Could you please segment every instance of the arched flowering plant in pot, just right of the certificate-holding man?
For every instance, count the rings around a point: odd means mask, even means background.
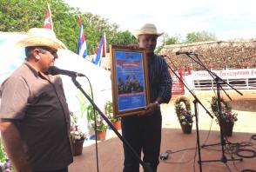
[[[180,96],[176,99],[174,106],[181,129],[185,134],[191,133],[193,115],[191,112],[191,105],[189,99],[187,99],[185,96]]]

